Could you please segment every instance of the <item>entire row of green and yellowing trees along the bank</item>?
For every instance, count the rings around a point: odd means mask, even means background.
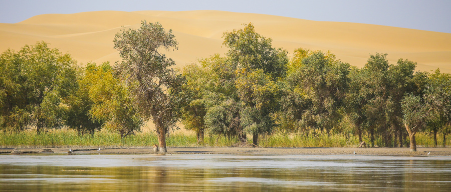
[[[415,72],[415,63],[386,54],[370,55],[359,69],[333,54],[295,50],[293,58],[272,47],[252,24],[224,33],[227,54],[189,64],[180,73],[161,49],[177,49],[174,36],[158,23],[122,30],[114,48],[123,58],[111,67],[78,67],[68,54],[44,42],[0,56],[0,126],[4,131],[71,127],[94,133],[102,127],[122,137],[155,124],[160,151],[165,136],[181,120],[198,142],[206,132],[238,137],[274,130],[352,131],[401,146],[430,129],[443,140],[451,126],[451,76]],[[443,142],[444,143],[444,142]]]

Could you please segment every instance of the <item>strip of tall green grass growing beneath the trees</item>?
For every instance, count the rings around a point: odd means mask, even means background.
[[[438,146],[442,146],[442,136],[437,135]],[[451,138],[451,136],[450,136]],[[270,135],[262,135],[259,138],[262,147],[357,147],[358,138],[353,135],[325,132],[310,134],[308,137],[295,133],[275,132]],[[369,138],[363,138],[369,144]],[[252,137],[248,138],[248,143]],[[417,145],[433,147],[431,135],[423,132],[416,134]],[[446,145],[450,145],[447,139]],[[36,134],[35,131],[23,131],[19,133],[0,132],[0,147],[151,147],[157,144],[157,136],[154,132],[137,133],[123,139],[119,134],[107,131],[99,131],[94,135],[78,135],[70,129],[59,129],[51,132]],[[239,143],[238,138],[227,138],[220,135],[205,135],[204,142],[198,144],[195,133],[173,132],[167,135],[168,147],[229,147]],[[383,146],[382,138],[375,139],[375,144]],[[408,147],[408,144],[405,145]]]

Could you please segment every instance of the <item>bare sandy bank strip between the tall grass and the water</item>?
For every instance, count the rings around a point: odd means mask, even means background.
[[[53,152],[48,152],[51,149]],[[403,148],[344,148],[344,147],[170,147],[167,153],[155,153],[153,148],[98,148],[72,147],[76,154],[228,154],[228,155],[396,155],[396,156],[451,156],[451,147],[417,147],[411,152]],[[69,148],[0,148],[0,154],[67,154]],[[430,152],[429,155],[427,153]]]

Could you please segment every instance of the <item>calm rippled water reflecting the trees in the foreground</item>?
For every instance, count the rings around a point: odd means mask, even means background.
[[[0,191],[449,191],[451,157],[0,155]]]

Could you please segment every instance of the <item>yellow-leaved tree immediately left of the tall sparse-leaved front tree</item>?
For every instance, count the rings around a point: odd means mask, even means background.
[[[134,97],[131,97],[130,87],[113,76],[113,70],[108,62],[99,67],[92,64],[87,72],[89,99],[93,102],[89,115],[97,122],[105,122],[103,127],[118,132],[121,138],[139,131],[143,124],[142,115]]]

